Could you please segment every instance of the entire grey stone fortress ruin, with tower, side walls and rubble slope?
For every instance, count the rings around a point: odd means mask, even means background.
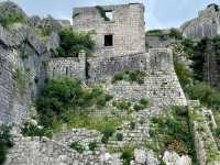
[[[12,30],[0,24],[0,124],[12,123],[18,128],[35,116],[35,99],[48,79],[57,76],[78,78],[86,90],[99,85],[113,98],[112,102],[102,107],[103,109],[94,106],[95,108],[85,108],[79,113],[84,112],[95,120],[119,117],[122,120],[105,148],[101,146],[103,132],[98,129],[68,130],[66,123],[61,123],[61,132],[55,133],[52,139],[24,136],[14,129],[14,146],[10,148],[4,165],[122,165],[121,151],[118,150],[128,143],[141,146],[134,148],[131,165],[160,165],[164,161],[168,165],[190,165],[191,160],[187,154],[180,155],[169,151],[154,153],[146,144],[153,142],[153,147],[158,145],[157,139],[154,141],[151,135],[157,123],[154,125],[150,120],[158,116],[168,117],[169,113],[166,112],[173,106],[189,107],[191,117],[185,118],[187,121],[191,120],[189,127],[195,138],[193,143],[199,164],[219,164],[216,157],[220,153],[209,128],[209,124],[215,123],[212,112],[199,107],[198,101],[186,99],[174,69],[173,51],[165,46],[169,42],[162,44],[160,40],[152,41],[153,37],[145,36],[142,3],[74,8],[73,25],[66,21],[29,18],[13,2],[7,1],[0,3],[1,6],[21,12],[26,22],[24,25],[15,24]],[[208,10],[212,11],[215,7],[210,6]],[[58,31],[65,25],[77,32],[92,32],[96,43],[94,52],[86,54],[81,50],[77,57],[52,57],[52,52],[61,44]],[[53,29],[46,40],[36,35],[35,29],[42,26]],[[193,22],[185,24],[184,34],[193,35],[194,28]],[[128,80],[111,81],[117,73],[128,70],[143,72],[145,75],[142,84]],[[134,106],[140,103],[142,98],[148,99],[145,100],[150,102],[148,107],[135,110]],[[122,110],[113,106],[113,101],[122,99],[130,101],[131,108]],[[194,107],[198,109],[195,110]],[[210,123],[207,122],[207,116],[212,119]],[[117,139],[118,134],[121,134],[121,140]],[[97,148],[91,151],[85,147],[86,150],[79,153],[70,147],[74,142],[87,147],[97,142]],[[98,151],[99,148],[102,151]],[[106,148],[113,152],[109,154]],[[161,154],[164,154],[163,160]],[[206,164],[210,155],[215,155],[210,162],[216,164]]]

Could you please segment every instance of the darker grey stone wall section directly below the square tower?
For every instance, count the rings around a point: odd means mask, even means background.
[[[114,73],[122,70],[145,70],[148,67],[147,59],[147,53],[120,57],[90,58],[88,59],[88,80],[91,82],[101,81],[112,76]]]

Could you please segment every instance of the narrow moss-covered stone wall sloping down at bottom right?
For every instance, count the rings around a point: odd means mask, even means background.
[[[191,105],[190,101],[189,105]],[[205,111],[205,108],[194,106],[189,109],[197,160],[200,165],[218,165],[220,164],[220,151],[209,128]]]

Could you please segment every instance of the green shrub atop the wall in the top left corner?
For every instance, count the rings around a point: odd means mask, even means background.
[[[6,9],[6,7],[0,7],[0,24],[4,28],[10,28],[13,23],[24,23],[26,21],[20,11],[11,11]]]

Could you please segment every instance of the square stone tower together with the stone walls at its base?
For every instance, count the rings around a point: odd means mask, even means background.
[[[86,59],[84,53],[77,59],[51,59],[48,75],[68,74],[92,84],[107,81],[117,72],[144,70],[148,76],[140,90],[135,90],[139,88],[135,85],[124,84],[109,85],[108,90],[119,98],[138,100],[147,96],[161,100],[163,106],[186,105],[172,51],[146,48],[143,4],[75,8],[73,14],[75,31],[95,32],[96,48]]]

